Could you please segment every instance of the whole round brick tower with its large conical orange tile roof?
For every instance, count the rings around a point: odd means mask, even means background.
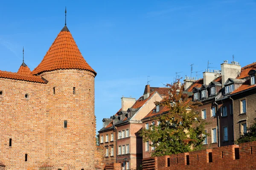
[[[46,79],[45,156],[61,170],[94,170],[96,72],[65,25],[32,71]]]

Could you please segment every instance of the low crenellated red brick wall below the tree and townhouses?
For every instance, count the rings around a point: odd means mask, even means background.
[[[238,148],[239,154],[236,154],[235,150]],[[212,162],[209,159],[209,153],[212,153]],[[187,156],[189,156],[189,165],[187,165]],[[153,164],[151,162],[151,170],[255,170],[256,142],[170,156],[158,156],[153,159],[155,160],[155,167],[152,168]],[[150,158],[143,159],[143,170],[149,169],[147,167],[149,160]]]

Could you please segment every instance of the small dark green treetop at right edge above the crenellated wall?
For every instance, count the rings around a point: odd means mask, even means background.
[[[247,130],[247,133],[244,133],[240,136],[239,139],[237,139],[237,141],[235,142],[236,144],[256,141],[256,121],[254,121],[253,125]]]

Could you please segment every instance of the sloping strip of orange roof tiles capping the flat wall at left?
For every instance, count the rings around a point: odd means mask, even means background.
[[[40,76],[18,74],[18,73],[12,73],[7,71],[0,71],[0,78],[22,80],[27,82],[38,82],[38,83],[45,83],[45,84],[47,83]]]

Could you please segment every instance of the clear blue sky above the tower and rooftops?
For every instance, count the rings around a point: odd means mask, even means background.
[[[5,0],[0,5],[0,70],[33,70],[67,27],[95,79],[97,130],[121,108],[121,97],[204,71],[207,61],[256,61],[256,0]],[[202,76],[202,72],[200,73]],[[195,76],[195,73],[192,74]],[[200,77],[199,76],[199,77]]]

